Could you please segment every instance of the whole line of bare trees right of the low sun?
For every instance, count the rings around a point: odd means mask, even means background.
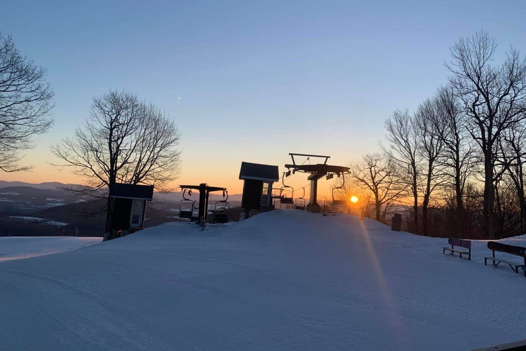
[[[387,144],[351,164],[366,215],[405,214],[406,229],[433,236],[524,233],[526,58],[480,31],[450,47],[448,83],[414,113],[385,122]],[[405,204],[406,206],[400,206]]]

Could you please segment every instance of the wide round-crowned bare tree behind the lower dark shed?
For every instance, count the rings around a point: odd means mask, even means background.
[[[89,118],[52,145],[51,151],[86,180],[83,192],[109,192],[114,183],[149,184],[168,190],[180,164],[180,135],[175,123],[154,105],[126,92],[93,99]],[[106,195],[107,196],[107,195]],[[111,231],[113,203],[107,198],[106,233]]]

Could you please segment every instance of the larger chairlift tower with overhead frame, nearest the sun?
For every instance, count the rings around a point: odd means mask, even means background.
[[[287,172],[290,175],[290,172],[296,173],[296,172],[302,172],[302,173],[309,173],[310,175],[307,177],[308,180],[310,180],[310,199],[309,204],[307,205],[307,210],[309,212],[313,213],[319,213],[320,212],[320,205],[318,205],[318,179],[321,179],[323,177],[326,177],[327,179],[332,178],[335,174],[339,177],[340,175],[349,173],[349,167],[345,166],[333,166],[328,165],[327,161],[329,160],[330,156],[321,156],[321,155],[307,155],[307,154],[289,154],[292,158],[292,164],[286,164],[285,168],[289,170]],[[298,165],[296,164],[296,161],[294,159],[294,156],[302,156],[302,157],[312,157],[312,158],[325,158],[325,161],[321,164],[314,164],[314,165]]]

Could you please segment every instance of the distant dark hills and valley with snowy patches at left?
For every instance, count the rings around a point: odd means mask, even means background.
[[[72,186],[75,184],[0,180],[0,236],[102,235],[105,214],[101,210],[106,200],[64,189]],[[197,203],[198,192],[189,198],[195,199]],[[179,220],[181,199],[182,192],[155,193],[153,201],[148,203],[146,226]],[[213,206],[222,199],[221,192],[210,193],[209,205]],[[229,196],[228,202],[231,209],[240,206],[241,195]]]

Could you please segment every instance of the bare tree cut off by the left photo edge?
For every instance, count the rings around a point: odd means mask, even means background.
[[[49,130],[53,91],[46,70],[27,61],[11,36],[0,33],[0,169],[27,171],[20,151],[33,148],[32,136]]]

